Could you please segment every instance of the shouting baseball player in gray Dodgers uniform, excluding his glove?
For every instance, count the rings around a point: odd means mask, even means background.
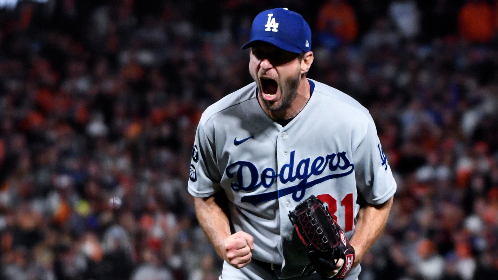
[[[356,251],[347,280],[383,230],[396,184],[368,110],[306,78],[311,29],[286,8],[253,20],[254,82],[203,113],[188,190],[217,253],[220,280],[320,279],[288,218],[316,196]],[[337,269],[345,260],[337,261]]]

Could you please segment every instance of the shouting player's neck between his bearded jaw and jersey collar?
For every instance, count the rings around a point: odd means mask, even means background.
[[[268,115],[273,121],[280,122],[294,118],[303,110],[304,106],[308,103],[310,99],[310,84],[308,79],[303,76],[299,82],[299,87],[297,88],[296,98],[292,101],[291,105],[285,109],[279,111],[270,111],[264,106],[261,106],[264,113]]]

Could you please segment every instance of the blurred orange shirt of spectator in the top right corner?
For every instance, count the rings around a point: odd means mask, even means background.
[[[484,0],[471,0],[458,15],[458,30],[470,42],[486,43],[494,35],[493,8]]]

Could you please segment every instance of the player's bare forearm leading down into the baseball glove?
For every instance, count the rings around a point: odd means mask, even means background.
[[[351,246],[355,248],[356,254],[354,266],[360,264],[365,254],[367,254],[384,229],[391,210],[392,200],[393,198],[391,197],[380,205],[369,204],[361,208],[358,212],[355,233],[350,241]]]

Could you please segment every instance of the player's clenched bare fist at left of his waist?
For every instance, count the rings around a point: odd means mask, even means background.
[[[227,237],[222,246],[225,253],[223,259],[234,268],[241,269],[251,261],[254,238],[248,233],[239,231]]]

